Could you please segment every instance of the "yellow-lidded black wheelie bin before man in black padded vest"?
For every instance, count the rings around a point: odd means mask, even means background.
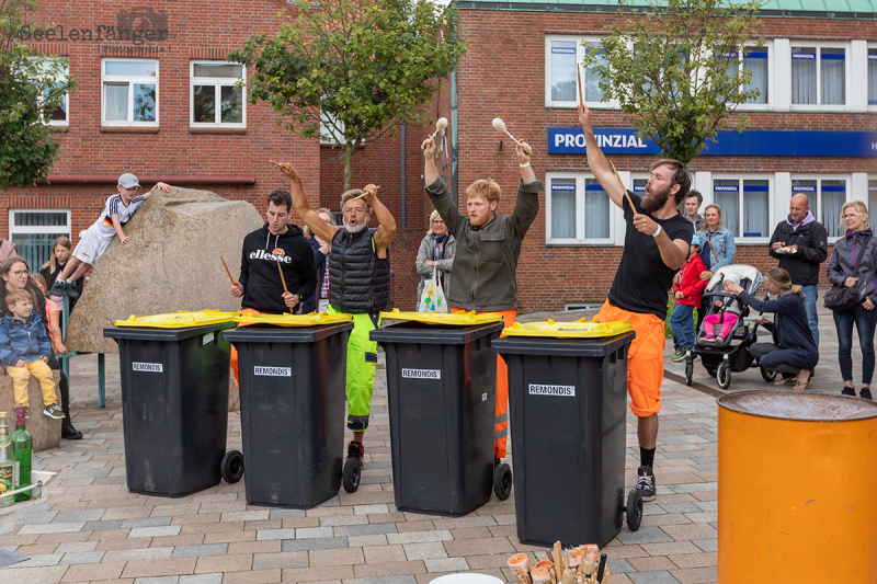
[[[235,320],[247,502],[316,507],[341,489],[352,317]]]

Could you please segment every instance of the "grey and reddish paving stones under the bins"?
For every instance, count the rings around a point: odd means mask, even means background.
[[[522,320],[574,320],[592,313],[543,313]],[[823,364],[812,389],[839,391],[831,316],[821,314],[820,323]],[[686,387],[683,366],[671,364],[670,354],[668,343],[656,456],[658,500],[646,505],[638,531],[625,525],[604,550],[613,584],[716,581],[715,396],[722,392],[699,364],[694,387]],[[104,410],[98,410],[96,357],[78,357],[71,369],[73,423],[86,438],[61,440],[60,448],[35,455],[36,469],[58,473],[47,497],[0,509],[0,546],[30,558],[0,569],[0,582],[415,584],[457,571],[509,581],[505,561],[512,553],[542,549],[519,541],[514,496],[505,502],[492,499],[460,518],[396,511],[383,356],[363,484],[354,494],[342,490],[309,511],[250,506],[243,481],[181,499],[129,493],[118,359],[106,358]],[[766,387],[759,370],[751,369],[734,374],[729,389]],[[628,488],[639,459],[635,424],[628,412]],[[228,447],[240,448],[240,417],[230,414]],[[424,442],[424,453],[433,447]]]

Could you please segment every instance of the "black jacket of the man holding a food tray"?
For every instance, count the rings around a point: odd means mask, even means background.
[[[779,260],[779,267],[788,272],[791,283],[798,286],[819,284],[819,264],[829,256],[829,233],[819,221],[791,229],[788,221],[782,221],[774,229],[767,253]],[[796,253],[776,253],[773,249],[774,241],[783,241],[786,247],[797,245]]]

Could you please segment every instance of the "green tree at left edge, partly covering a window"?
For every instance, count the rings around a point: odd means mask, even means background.
[[[19,42],[36,0],[0,0],[0,188],[44,181],[60,156],[52,126],[44,123],[76,88],[64,76],[66,61]]]

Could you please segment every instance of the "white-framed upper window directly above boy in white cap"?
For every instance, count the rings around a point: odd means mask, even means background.
[[[101,122],[106,126],[158,126],[158,61],[104,59]]]

